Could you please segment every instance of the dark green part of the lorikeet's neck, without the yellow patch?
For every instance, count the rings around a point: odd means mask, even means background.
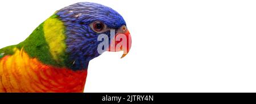
[[[47,42],[46,33],[44,28],[46,26],[46,22],[40,24],[30,36],[22,43],[15,45],[18,49],[24,49],[24,51],[31,57],[36,58],[41,61],[43,64],[64,67],[65,66],[65,57],[67,55],[59,54],[61,59],[53,54],[53,50],[51,50],[52,43]],[[53,41],[53,40],[52,40]],[[58,48],[55,46],[55,48]],[[56,50],[55,50],[56,51]],[[58,53],[58,52],[56,52]]]

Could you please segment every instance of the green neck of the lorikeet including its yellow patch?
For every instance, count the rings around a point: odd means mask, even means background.
[[[56,15],[52,15],[15,47],[23,48],[30,57],[38,59],[43,64],[69,68],[73,61],[68,60],[69,56],[65,52],[64,28],[64,23]]]

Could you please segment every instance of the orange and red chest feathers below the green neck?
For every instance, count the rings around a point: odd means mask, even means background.
[[[0,59],[0,92],[83,92],[87,70],[55,68],[31,59],[27,53]]]

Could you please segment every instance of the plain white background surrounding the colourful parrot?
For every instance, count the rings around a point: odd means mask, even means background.
[[[76,2],[0,1],[0,48]],[[256,1],[89,2],[118,11],[133,45],[90,61],[85,92],[256,92]]]

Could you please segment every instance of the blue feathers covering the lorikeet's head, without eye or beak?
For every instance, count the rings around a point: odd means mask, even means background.
[[[115,29],[126,25],[117,11],[98,3],[75,3],[57,11],[56,15],[66,27],[68,67],[73,70],[87,69],[89,61],[100,56],[97,52],[101,42],[97,41],[99,34],[90,28],[90,23],[100,20],[107,27]],[[110,35],[110,31],[104,34]]]

